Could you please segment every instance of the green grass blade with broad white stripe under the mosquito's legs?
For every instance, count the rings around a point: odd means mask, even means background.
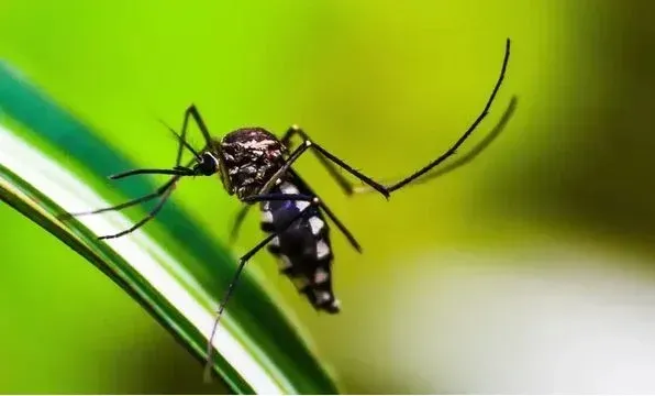
[[[98,241],[97,234],[132,223],[121,213],[59,222],[56,215],[65,210],[110,206],[89,186],[137,165],[2,65],[0,110],[0,199],[100,268],[202,360],[217,298],[236,266],[232,254],[174,200],[157,217],[164,224],[157,240],[146,230]],[[82,169],[65,168],[55,160],[62,155]],[[81,182],[81,174],[92,179]],[[126,197],[155,188],[147,178],[115,187]],[[224,319],[214,340],[215,369],[234,392],[337,393],[297,326],[247,273]],[[200,366],[198,373],[201,381]]]

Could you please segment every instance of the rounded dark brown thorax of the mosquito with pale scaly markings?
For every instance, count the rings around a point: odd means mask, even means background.
[[[221,141],[225,169],[233,193],[243,198],[256,194],[285,164],[286,147],[263,128],[242,128]]]

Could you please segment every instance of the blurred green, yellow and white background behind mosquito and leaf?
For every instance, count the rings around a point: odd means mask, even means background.
[[[655,6],[645,1],[0,2],[0,55],[107,143],[169,166],[198,105],[215,134],[303,125],[377,178],[401,177],[506,85],[474,163],[390,201],[298,168],[355,232],[335,235],[337,317],[259,271],[346,391],[655,392]],[[196,138],[196,142],[200,142]],[[119,169],[121,170],[121,169]],[[219,183],[175,194],[217,239]],[[212,393],[200,364],[99,271],[0,206],[0,392]],[[156,227],[156,226],[149,226]],[[238,242],[260,238],[252,216]]]

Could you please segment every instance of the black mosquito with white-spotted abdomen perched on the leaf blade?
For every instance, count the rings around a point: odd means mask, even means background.
[[[387,199],[391,193],[403,188],[424,175],[426,178],[441,175],[444,172],[440,170],[444,168],[434,168],[455,154],[457,148],[471,135],[489,112],[504,79],[509,57],[510,40],[508,38],[500,75],[481,113],[446,152],[423,168],[395,184],[384,185],[356,170],[323,148],[297,125],[290,127],[281,139],[257,127],[241,128],[227,133],[222,139],[214,139],[211,136],[196,106],[191,105],[185,111],[179,134],[167,127],[178,141],[174,167],[133,169],[110,176],[111,179],[120,179],[134,175],[171,175],[173,177],[168,182],[154,193],[124,204],[87,212],[68,213],[67,216],[96,215],[125,209],[149,200],[158,200],[147,216],[131,228],[115,234],[99,237],[99,239],[123,237],[155,218],[170,197],[177,183],[182,177],[188,176],[218,175],[226,193],[235,195],[244,204],[234,222],[232,239],[238,232],[247,209],[254,204],[259,205],[262,230],[267,235],[240,257],[236,272],[219,305],[207,345],[206,378],[209,378],[213,366],[212,341],[225,305],[230,300],[246,263],[263,248],[267,246],[267,250],[277,258],[280,272],[290,278],[297,290],[304,295],[314,309],[328,314],[337,314],[340,311],[340,301],[335,298],[332,288],[333,254],[326,221],[330,220],[336,226],[357,252],[362,252],[362,248],[344,223],[296,173],[292,168],[293,163],[306,152],[312,152],[346,195],[371,190],[381,194]],[[509,114],[509,112],[506,114]],[[199,151],[187,142],[187,130],[191,120],[197,124],[204,140],[204,146]],[[301,139],[302,143],[293,148],[292,140],[297,136]],[[476,150],[471,151],[473,154],[467,156],[468,161],[482,148],[484,146],[479,145],[477,152]],[[191,153],[193,158],[182,165],[181,157],[185,150]],[[446,172],[453,170],[454,167],[467,162],[466,157],[464,160],[457,164],[451,164]],[[365,188],[356,188],[342,175],[340,169],[359,179]],[[432,169],[435,172],[430,173]]]

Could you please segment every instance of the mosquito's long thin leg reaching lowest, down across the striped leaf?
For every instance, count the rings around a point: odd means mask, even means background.
[[[256,196],[253,199],[257,199]],[[271,234],[269,234],[268,237],[266,237],[262,242],[259,242],[255,248],[251,249],[246,254],[244,254],[240,260],[238,260],[238,266],[236,267],[236,272],[234,274],[234,276],[232,277],[232,280],[230,282],[230,285],[227,286],[227,290],[225,292],[225,295],[223,296],[223,299],[221,300],[221,304],[219,305],[219,310],[217,312],[217,318],[214,319],[214,324],[213,328],[211,330],[211,334],[208,339],[207,342],[207,364],[204,366],[204,380],[206,382],[209,382],[211,378],[211,369],[213,366],[213,338],[217,333],[217,330],[219,328],[219,322],[221,321],[221,317],[223,316],[223,310],[225,309],[225,305],[227,304],[227,301],[230,300],[230,297],[232,297],[232,294],[234,292],[234,287],[236,286],[241,274],[243,272],[243,268],[245,267],[245,264],[247,263],[247,261],[254,256],[258,251],[260,251],[264,246],[266,246],[270,241],[273,241],[274,238],[278,237],[281,232],[285,232],[292,223],[295,223],[296,221],[298,221],[299,219],[301,219],[302,217],[304,217],[308,212],[308,210],[312,207],[315,207],[319,205],[319,199],[313,197],[311,199],[311,205],[309,205],[307,208],[302,209],[297,216],[295,216],[292,219],[290,219],[284,228],[281,228],[279,231],[274,232]]]

